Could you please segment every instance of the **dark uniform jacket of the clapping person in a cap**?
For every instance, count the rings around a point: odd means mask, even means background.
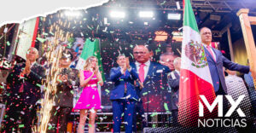
[[[62,69],[59,74],[67,74],[67,82],[57,84],[55,106],[73,107],[73,86],[79,87],[79,71],[73,68],[67,68],[67,70]]]

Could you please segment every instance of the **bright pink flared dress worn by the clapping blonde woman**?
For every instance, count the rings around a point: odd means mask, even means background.
[[[84,71],[84,80],[89,78],[92,72]],[[97,78],[93,76],[88,84],[84,87],[74,109],[102,109],[101,99],[97,90]]]

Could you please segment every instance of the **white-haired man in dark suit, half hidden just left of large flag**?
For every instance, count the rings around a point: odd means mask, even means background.
[[[171,112],[172,112],[172,124],[177,124],[177,103],[178,103],[178,90],[179,90],[179,77],[180,77],[180,66],[181,58],[177,57],[173,61],[174,71],[168,73],[168,85],[171,88]]]

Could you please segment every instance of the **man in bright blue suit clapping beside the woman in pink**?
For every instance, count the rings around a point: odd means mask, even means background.
[[[135,69],[130,67],[129,59],[125,58],[125,55],[119,55],[117,63],[119,67],[110,70],[110,79],[114,82],[114,89],[110,93],[113,106],[113,132],[120,132],[124,113],[125,132],[131,133],[135,102],[138,99],[134,83],[138,75]]]

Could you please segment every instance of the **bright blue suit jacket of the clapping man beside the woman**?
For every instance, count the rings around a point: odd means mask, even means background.
[[[126,70],[125,74],[122,74],[121,67],[113,67],[110,70],[110,79],[114,82],[114,88],[110,93],[110,100],[122,99],[125,96],[128,99],[138,99],[136,89],[134,87],[134,81],[138,79],[138,75],[134,68],[131,68],[131,72]]]

